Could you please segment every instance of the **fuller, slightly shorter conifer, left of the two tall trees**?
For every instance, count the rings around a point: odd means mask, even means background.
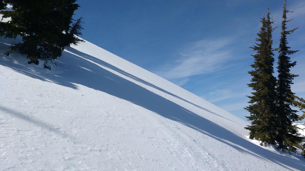
[[[251,83],[248,84],[255,92],[248,96],[250,105],[245,107],[250,112],[247,117],[251,120],[251,125],[246,127],[250,131],[251,139],[261,141],[261,145],[276,144],[276,78],[273,63],[274,54],[272,50],[272,28],[273,21],[270,18],[268,9],[267,17],[261,19],[262,26],[257,33],[258,43],[251,47],[257,51],[254,58],[254,64],[250,65],[253,70],[248,73],[252,76]]]

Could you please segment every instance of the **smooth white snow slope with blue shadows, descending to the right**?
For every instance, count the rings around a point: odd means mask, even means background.
[[[246,122],[86,41],[52,71],[3,55],[0,170],[305,170]]]

